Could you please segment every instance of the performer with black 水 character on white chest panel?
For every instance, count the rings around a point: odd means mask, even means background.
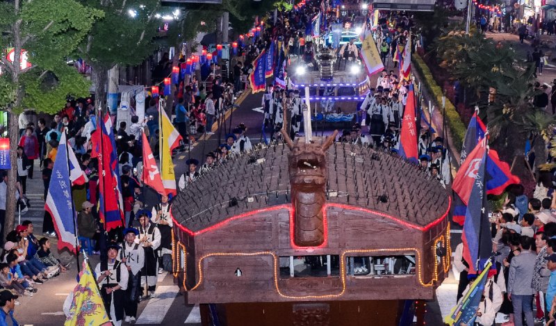
[[[124,229],[124,245],[120,250],[120,259],[125,264],[129,273],[129,281],[124,297],[125,322],[131,323],[137,317],[137,305],[139,302],[141,286],[141,268],[145,266],[145,250],[136,243],[139,230],[133,227]]]

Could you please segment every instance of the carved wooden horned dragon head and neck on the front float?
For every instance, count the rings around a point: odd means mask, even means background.
[[[291,202],[294,209],[293,243],[300,247],[316,247],[325,241],[324,213],[326,201],[327,165],[326,151],[336,139],[334,131],[322,144],[315,142],[295,143],[288,133],[281,130],[286,144],[290,172]]]

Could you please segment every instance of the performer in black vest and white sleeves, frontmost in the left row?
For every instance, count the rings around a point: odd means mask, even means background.
[[[129,272],[117,260],[120,246],[108,245],[108,261],[97,263],[95,274],[106,311],[115,326],[122,325],[124,319],[124,295],[127,289]]]

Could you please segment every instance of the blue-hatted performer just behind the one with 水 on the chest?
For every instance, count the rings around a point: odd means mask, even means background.
[[[138,211],[139,239],[138,242],[145,250],[145,266],[141,270],[141,286],[147,288],[147,298],[154,295],[156,288],[158,259],[156,250],[161,245],[161,232],[151,223],[152,214],[147,210]]]

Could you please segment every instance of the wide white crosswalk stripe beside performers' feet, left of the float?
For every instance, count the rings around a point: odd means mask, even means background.
[[[149,300],[147,307],[137,318],[136,324],[161,324],[178,291],[179,288],[175,285],[157,286],[156,291],[154,291],[154,298]]]

